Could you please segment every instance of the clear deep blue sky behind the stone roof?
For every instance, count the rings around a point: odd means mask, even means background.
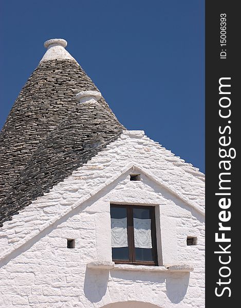
[[[1,1],[0,127],[45,52],[67,50],[127,129],[204,172],[205,1]]]

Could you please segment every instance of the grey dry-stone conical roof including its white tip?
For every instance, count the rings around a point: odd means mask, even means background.
[[[45,43],[48,50],[0,134],[0,223],[49,191],[124,129],[103,98],[77,102],[78,92],[98,89],[63,41]]]

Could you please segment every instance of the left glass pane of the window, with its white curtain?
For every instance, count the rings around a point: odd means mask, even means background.
[[[127,211],[125,207],[110,207],[112,223],[112,259],[129,260]]]

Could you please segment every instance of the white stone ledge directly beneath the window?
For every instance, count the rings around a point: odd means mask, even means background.
[[[146,271],[146,272],[182,272],[188,273],[193,271],[190,264],[178,264],[170,266],[146,266],[132,264],[115,264],[108,261],[96,261],[87,264],[88,268],[93,269],[116,269],[121,271]]]

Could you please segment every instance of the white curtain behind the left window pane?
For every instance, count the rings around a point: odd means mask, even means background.
[[[112,218],[112,247],[127,247],[127,218]]]

